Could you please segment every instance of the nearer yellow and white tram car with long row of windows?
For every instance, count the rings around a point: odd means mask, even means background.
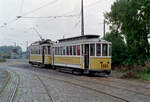
[[[53,44],[53,66],[86,73],[111,73],[111,42],[99,35],[60,39]]]

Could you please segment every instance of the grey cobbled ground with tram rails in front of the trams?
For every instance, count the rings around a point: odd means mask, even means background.
[[[150,102],[150,83],[40,69],[27,60],[8,60],[0,68],[11,74],[12,81],[18,76],[13,102]],[[15,85],[8,83],[7,89]]]

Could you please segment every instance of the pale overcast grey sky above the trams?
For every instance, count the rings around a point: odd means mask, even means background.
[[[86,35],[103,36],[103,14],[114,1],[84,0]],[[54,41],[79,36],[80,14],[81,0],[0,0],[0,46],[16,44],[25,50],[39,35]]]

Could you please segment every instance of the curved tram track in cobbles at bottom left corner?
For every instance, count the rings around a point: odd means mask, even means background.
[[[11,78],[0,94],[0,102],[14,102],[20,83],[20,77],[15,72],[10,72]]]

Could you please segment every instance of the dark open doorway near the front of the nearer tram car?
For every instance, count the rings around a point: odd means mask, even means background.
[[[89,44],[85,44],[84,68],[89,69]]]

